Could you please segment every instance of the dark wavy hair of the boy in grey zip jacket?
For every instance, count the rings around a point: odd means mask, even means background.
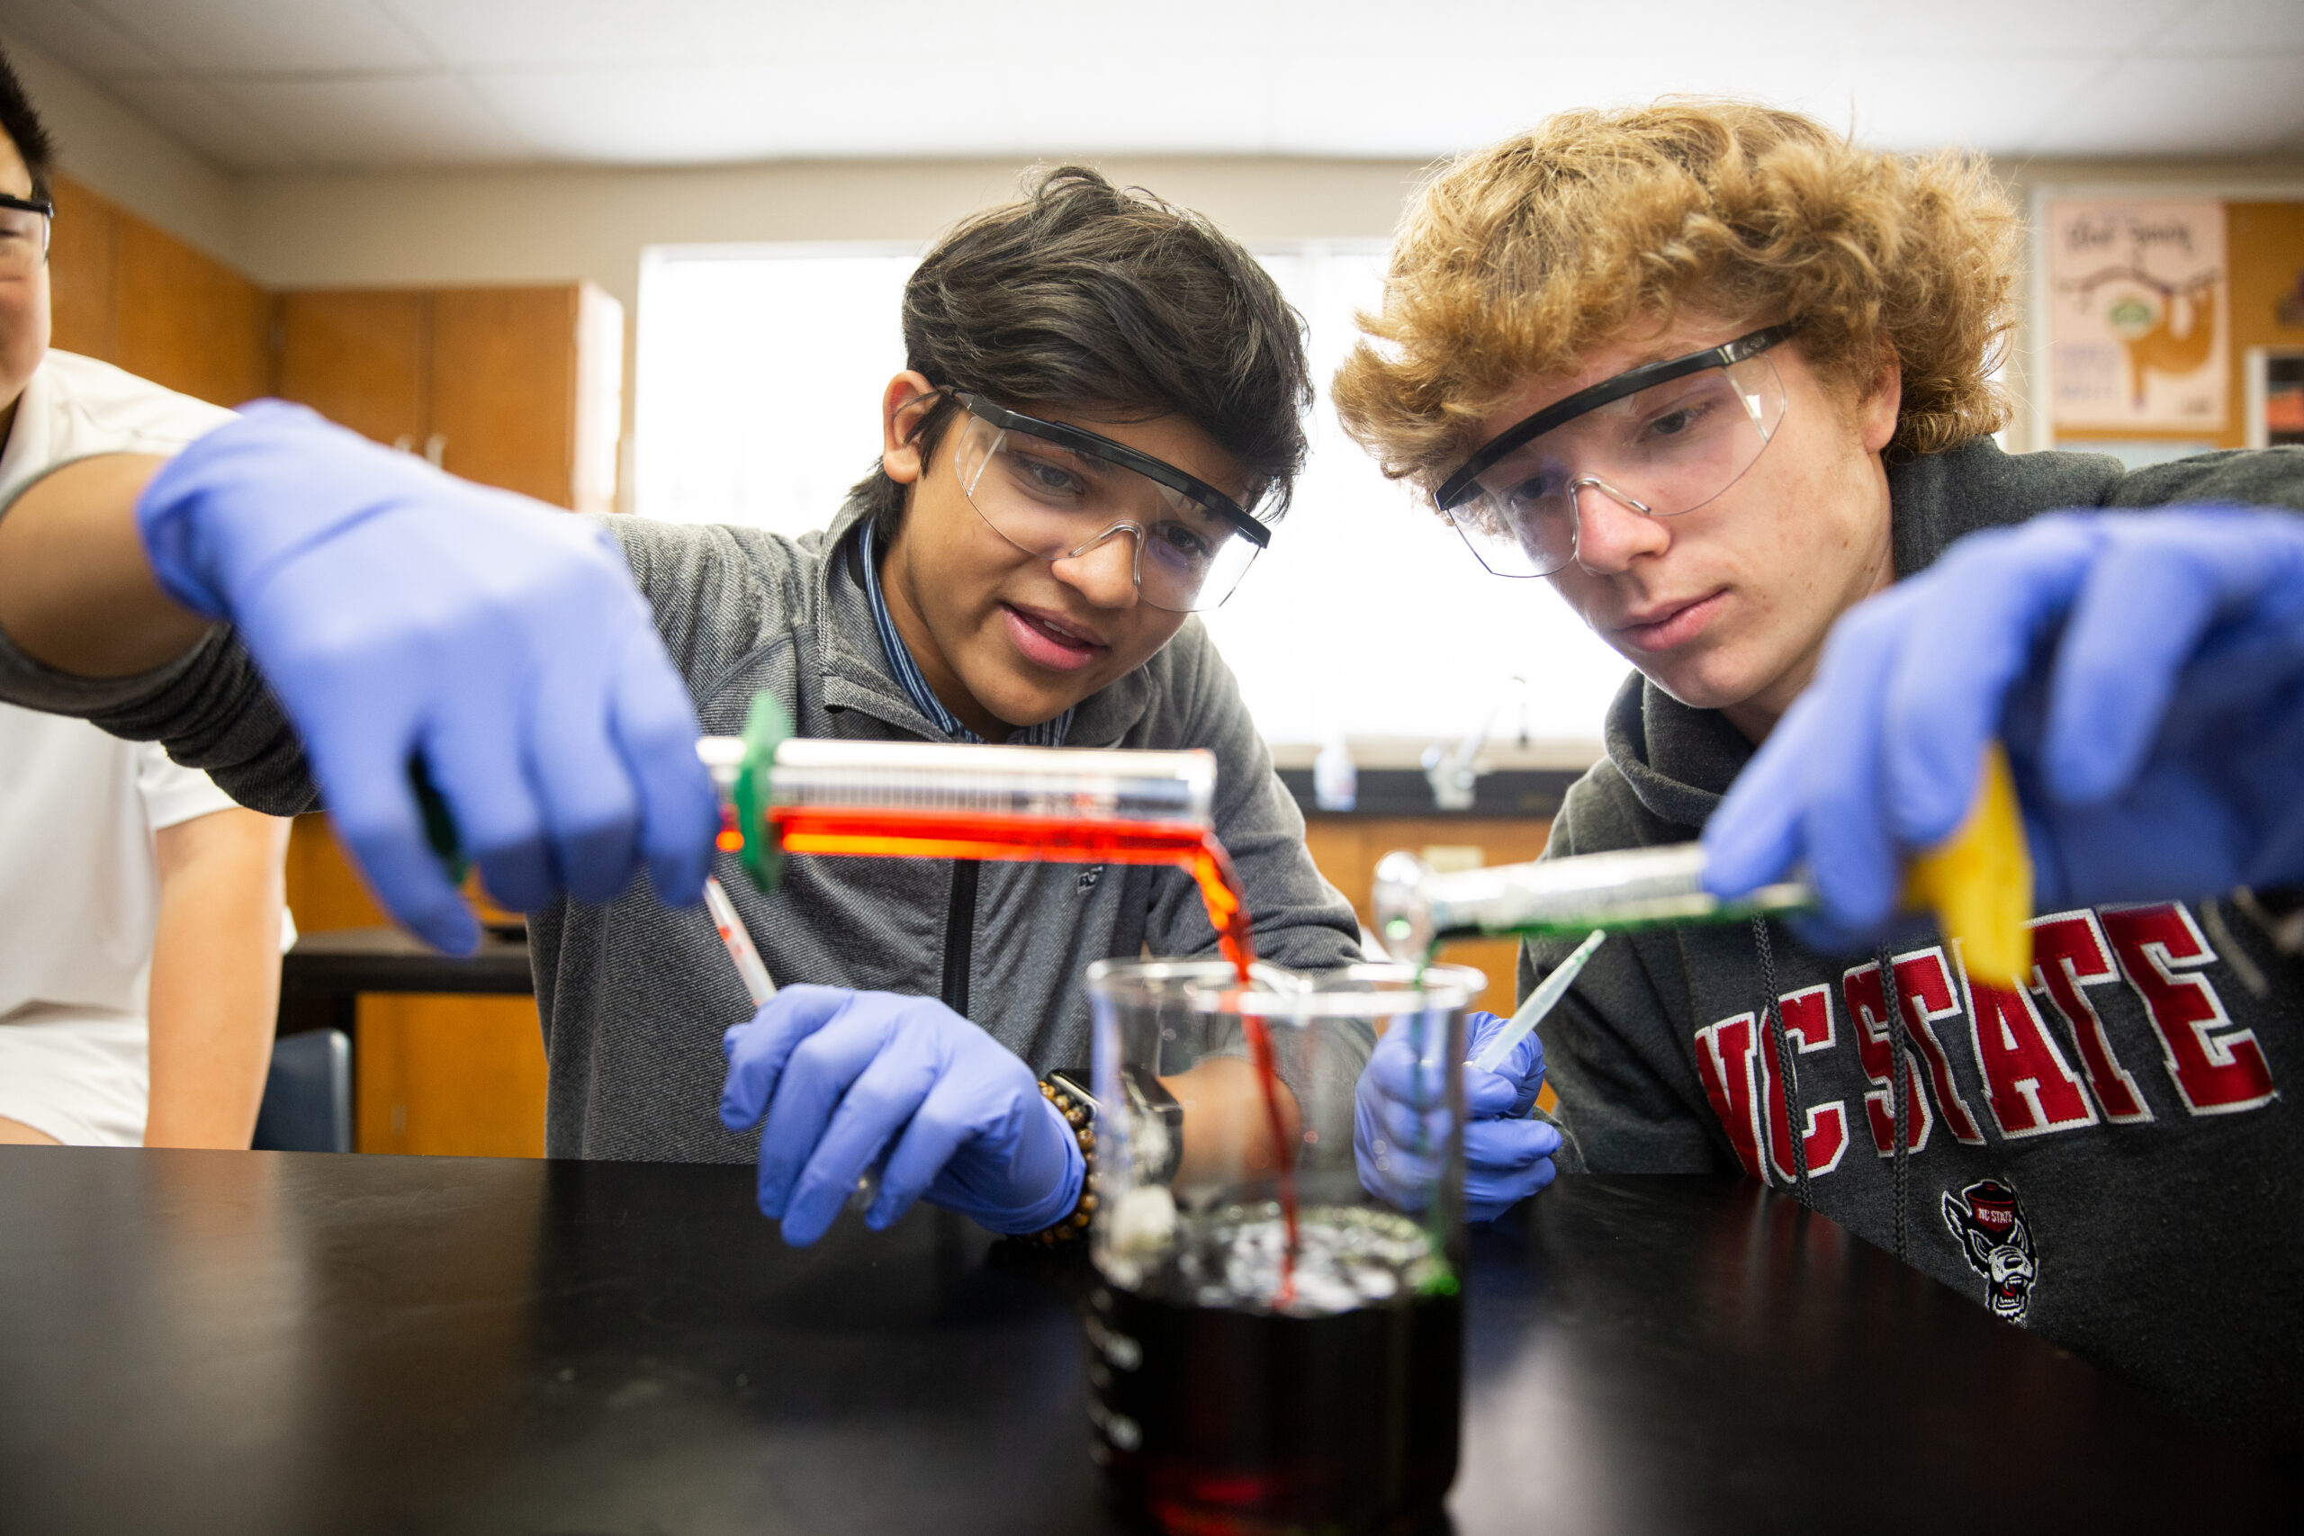
[[[1011,410],[1184,417],[1256,477],[1258,516],[1279,520],[1313,391],[1304,318],[1272,274],[1200,214],[1085,166],[1034,170],[1023,191],[965,219],[912,272],[905,366]],[[956,410],[942,396],[922,417],[924,456]],[[852,493],[882,539],[905,491],[873,465]]]

